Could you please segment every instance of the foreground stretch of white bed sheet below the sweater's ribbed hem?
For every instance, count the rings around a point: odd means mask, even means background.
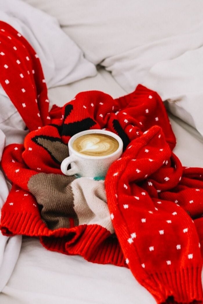
[[[2,304],[156,304],[125,267],[90,263],[46,250],[23,238],[15,270],[0,293]]]

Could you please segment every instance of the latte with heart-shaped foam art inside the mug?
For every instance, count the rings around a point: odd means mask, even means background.
[[[73,149],[87,156],[107,156],[114,153],[118,147],[118,141],[109,135],[90,133],[82,135],[72,143]]]

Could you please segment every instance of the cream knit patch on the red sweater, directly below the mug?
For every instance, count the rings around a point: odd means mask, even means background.
[[[74,196],[74,210],[79,224],[97,224],[110,233],[114,233],[104,181],[94,181],[89,178],[77,178],[71,183]]]

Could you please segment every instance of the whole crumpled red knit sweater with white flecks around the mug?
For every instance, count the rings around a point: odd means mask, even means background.
[[[2,156],[12,181],[2,233],[37,236],[49,250],[129,267],[157,303],[202,303],[203,169],[184,168],[173,154],[175,136],[159,95],[142,85],[115,100],[82,92],[48,113],[34,50],[6,23],[0,28],[0,82],[30,129],[24,144],[7,146]],[[110,130],[124,143],[105,181],[60,170],[70,137],[89,129]]]

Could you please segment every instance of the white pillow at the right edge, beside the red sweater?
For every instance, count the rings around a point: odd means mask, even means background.
[[[150,69],[144,84],[167,100],[170,112],[203,136],[202,58],[203,47],[199,47],[174,59],[160,61]]]

